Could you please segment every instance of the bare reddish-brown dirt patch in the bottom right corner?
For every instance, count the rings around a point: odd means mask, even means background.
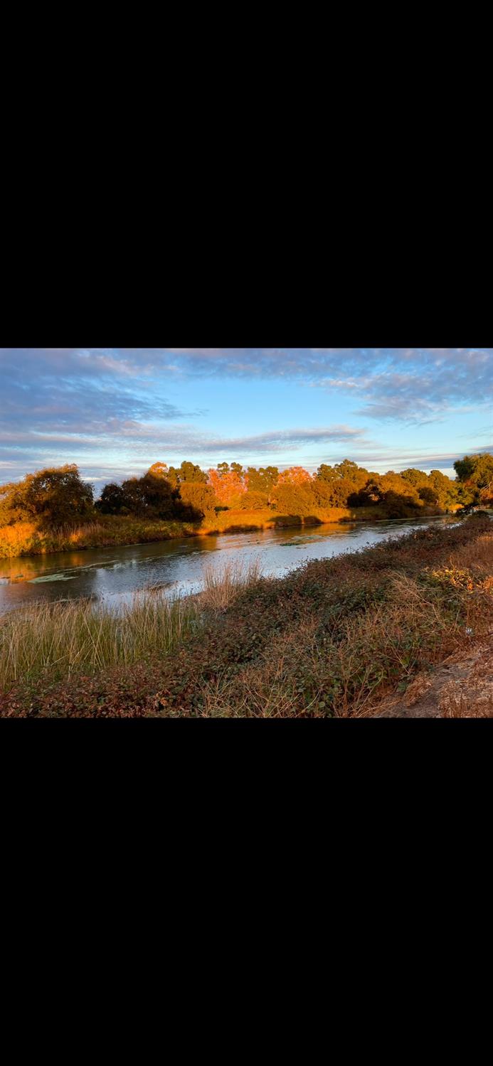
[[[379,718],[493,717],[493,633],[432,673],[418,674],[401,696],[377,708]]]

